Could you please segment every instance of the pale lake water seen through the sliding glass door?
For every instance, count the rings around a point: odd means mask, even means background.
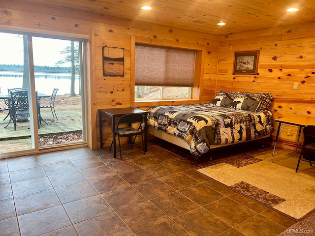
[[[7,94],[7,89],[21,88],[23,72],[0,71],[0,93]],[[79,75],[75,76],[74,90],[79,93]],[[58,88],[58,95],[70,94],[71,74],[35,73],[36,91],[50,95]]]

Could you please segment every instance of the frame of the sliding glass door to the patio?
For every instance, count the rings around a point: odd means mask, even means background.
[[[27,155],[27,154],[38,154],[48,151],[54,151],[54,150],[65,150],[72,147],[87,147],[89,140],[91,140],[90,137],[88,137],[88,126],[87,126],[87,102],[85,97],[88,95],[86,87],[87,87],[87,43],[89,36],[88,35],[81,35],[81,34],[73,34],[73,33],[58,33],[55,31],[46,31],[46,30],[30,30],[27,31],[25,29],[15,29],[15,28],[9,28],[9,29],[3,29],[0,28],[1,33],[12,33],[12,34],[22,34],[27,36],[28,40],[28,50],[29,50],[29,66],[30,66],[30,112],[32,113],[32,117],[37,116],[37,112],[35,111],[36,107],[36,99],[35,99],[35,77],[34,77],[34,64],[33,64],[33,37],[41,37],[41,38],[50,38],[50,39],[61,39],[61,40],[68,40],[68,41],[78,41],[81,43],[80,50],[82,51],[82,55],[80,55],[80,73],[81,73],[81,102],[82,102],[82,132],[83,132],[83,141],[77,142],[77,143],[71,143],[71,144],[65,144],[65,145],[53,145],[53,146],[39,146],[39,134],[38,134],[38,127],[37,127],[37,120],[32,119],[32,126],[31,126],[31,137],[32,137],[32,147],[30,148],[22,148],[22,149],[16,149],[14,151],[8,151],[8,152],[2,152],[0,153],[3,157],[14,157],[19,156],[21,154]]]

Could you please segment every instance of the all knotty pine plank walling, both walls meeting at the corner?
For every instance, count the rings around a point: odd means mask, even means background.
[[[195,45],[202,45],[205,53],[198,102],[211,102],[220,89],[271,92],[275,96],[272,103],[275,117],[315,117],[315,23],[219,37],[87,12],[17,4],[14,0],[2,0],[0,10],[0,29],[89,37],[86,88],[90,148],[99,147],[97,109],[131,105],[132,36],[169,46],[186,44],[188,48],[189,45],[194,48]],[[103,77],[102,46],[125,48],[124,77]],[[233,75],[234,51],[250,50],[260,50],[258,75]],[[298,83],[298,89],[293,89],[294,82]],[[141,108],[146,109],[150,105],[141,104]],[[108,123],[109,120],[104,123],[105,146],[111,143]],[[292,129],[292,135],[286,136],[286,132],[283,132],[279,147],[292,149],[297,129],[291,126],[286,128]]]

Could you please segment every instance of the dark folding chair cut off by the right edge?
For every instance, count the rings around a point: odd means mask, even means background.
[[[309,162],[310,166],[312,166],[312,164],[315,164],[315,125],[305,126],[303,128],[303,134],[304,141],[295,172],[297,172],[297,170],[299,169],[300,161]]]

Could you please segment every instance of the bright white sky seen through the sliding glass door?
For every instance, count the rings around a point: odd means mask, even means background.
[[[64,59],[60,52],[70,45],[70,41],[32,37],[32,45],[34,65],[56,66],[57,61]],[[0,64],[23,65],[22,35],[0,32]]]

